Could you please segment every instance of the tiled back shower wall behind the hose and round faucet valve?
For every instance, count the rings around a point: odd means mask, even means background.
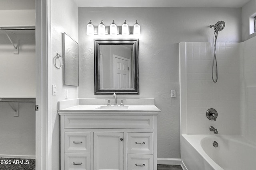
[[[240,43],[216,43],[218,82],[214,83],[213,43],[186,43],[187,134],[212,134],[210,126],[222,135],[241,134],[239,47]],[[216,121],[206,117],[210,108],[218,111]]]

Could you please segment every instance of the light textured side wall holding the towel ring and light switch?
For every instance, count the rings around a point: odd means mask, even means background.
[[[53,64],[56,53],[62,54],[62,33],[67,33],[78,42],[78,7],[73,0],[51,1],[51,54],[52,54],[52,84],[57,85],[57,95],[52,96],[52,169],[60,169],[60,115],[58,101],[65,100],[65,89],[68,99],[78,98],[78,87],[63,85],[63,70]]]

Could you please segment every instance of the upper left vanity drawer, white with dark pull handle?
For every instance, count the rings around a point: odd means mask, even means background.
[[[64,132],[66,153],[90,153],[90,132]]]

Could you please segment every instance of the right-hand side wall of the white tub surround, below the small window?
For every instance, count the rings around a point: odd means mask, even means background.
[[[256,144],[256,37],[248,39],[241,44],[242,49],[242,115],[243,135],[249,141]]]

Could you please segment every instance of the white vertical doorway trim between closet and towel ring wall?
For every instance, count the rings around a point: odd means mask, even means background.
[[[50,4],[36,0],[36,170],[52,169]]]

